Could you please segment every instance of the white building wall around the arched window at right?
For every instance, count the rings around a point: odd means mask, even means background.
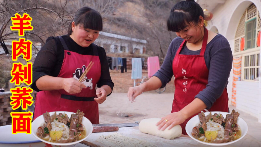
[[[226,37],[228,39],[230,47],[232,49],[232,53],[234,54],[234,37],[235,32],[239,23],[240,18],[242,17],[242,14],[246,10],[246,8],[251,4],[254,3],[257,7],[257,10],[259,13],[261,13],[261,2],[260,0],[226,0],[224,4],[218,5],[214,10],[212,10],[213,18],[212,23],[210,22],[208,29],[210,29],[212,26],[217,27],[217,30],[220,34]],[[260,51],[261,53],[261,51]],[[260,65],[260,64],[259,64]],[[260,71],[260,70],[259,70]],[[259,72],[260,73],[260,72]],[[229,77],[229,85],[227,86],[229,99],[231,99],[232,95],[232,70]],[[249,84],[250,87],[255,89],[255,91],[246,91],[242,88],[238,89],[238,86],[244,86]],[[252,85],[252,86],[251,86]],[[246,86],[245,86],[246,87]],[[252,95],[253,94],[253,95]],[[248,97],[253,97],[255,94],[255,102],[252,102],[250,108],[246,108],[247,106],[241,106],[241,102],[243,102],[243,98],[248,100]],[[261,78],[259,77],[259,83],[255,82],[245,82],[245,81],[237,81],[237,94],[236,94],[236,101],[237,101],[237,108],[244,109],[245,112],[257,117],[259,119],[259,122],[261,122]],[[245,101],[245,100],[244,100]],[[238,103],[239,102],[239,103]],[[255,108],[255,109],[254,109]],[[253,111],[257,111],[256,113],[253,113]]]

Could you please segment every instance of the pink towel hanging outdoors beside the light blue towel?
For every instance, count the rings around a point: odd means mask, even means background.
[[[148,58],[148,77],[151,78],[159,69],[160,69],[160,62],[159,57],[149,57]]]

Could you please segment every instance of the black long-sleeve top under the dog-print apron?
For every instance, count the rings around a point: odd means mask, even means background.
[[[92,46],[81,47],[69,35],[62,36],[70,51],[82,54],[93,55]],[[108,85],[113,90],[114,83],[110,77],[109,66],[104,48],[98,46],[98,56],[101,62],[101,77],[97,83],[98,87]],[[37,88],[35,82],[41,76],[49,75],[57,77],[60,73],[64,59],[64,48],[59,37],[49,37],[46,44],[38,52],[33,65],[33,81],[31,88],[35,91],[41,91]],[[110,95],[110,94],[109,94]]]

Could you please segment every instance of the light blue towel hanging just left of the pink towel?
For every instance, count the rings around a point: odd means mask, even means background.
[[[131,79],[142,79],[142,62],[141,58],[132,58]]]

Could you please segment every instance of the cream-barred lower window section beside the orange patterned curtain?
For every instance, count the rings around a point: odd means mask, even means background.
[[[259,53],[244,56],[244,80],[254,80],[259,77],[259,60]]]

